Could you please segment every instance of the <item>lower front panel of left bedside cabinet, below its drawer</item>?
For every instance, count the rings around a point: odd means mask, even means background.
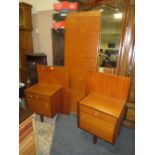
[[[47,116],[52,116],[51,102],[26,98],[28,109],[32,112],[40,113]]]

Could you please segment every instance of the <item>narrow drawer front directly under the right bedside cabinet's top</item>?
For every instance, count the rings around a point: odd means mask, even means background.
[[[107,115],[103,112],[97,111],[95,109],[80,105],[80,112],[84,112],[86,114],[92,115],[93,117],[99,118],[104,122],[108,122],[109,124],[115,124],[117,119],[113,116]]]

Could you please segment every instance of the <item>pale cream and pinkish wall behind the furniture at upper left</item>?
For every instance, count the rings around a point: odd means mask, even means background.
[[[52,51],[52,14],[53,3],[57,0],[19,0],[31,4],[32,24],[33,24],[33,51],[34,53],[43,52],[47,55],[48,65],[53,65]]]

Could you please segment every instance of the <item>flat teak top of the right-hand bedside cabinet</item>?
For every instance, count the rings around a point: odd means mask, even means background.
[[[80,105],[93,108],[114,117],[119,117],[125,102],[115,98],[103,96],[99,93],[91,93],[80,101]]]

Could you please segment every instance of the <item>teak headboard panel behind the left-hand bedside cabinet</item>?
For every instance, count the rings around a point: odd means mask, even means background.
[[[68,114],[70,111],[68,69],[66,67],[38,65],[37,72],[39,83],[63,86],[63,112]]]

